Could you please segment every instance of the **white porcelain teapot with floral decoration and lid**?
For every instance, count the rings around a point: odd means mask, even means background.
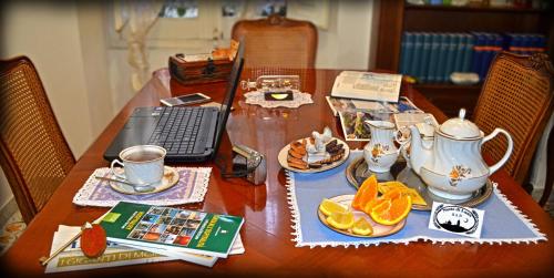
[[[470,198],[512,154],[513,141],[506,131],[495,128],[484,136],[474,123],[464,117],[465,110],[461,109],[459,117],[437,127],[432,144],[424,144],[419,128],[410,126],[410,164],[429,191],[439,197]],[[500,162],[489,167],[481,156],[481,146],[499,133],[506,136],[507,150]]]

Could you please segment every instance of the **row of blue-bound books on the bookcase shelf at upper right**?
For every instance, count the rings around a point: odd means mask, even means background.
[[[532,54],[545,47],[542,34],[404,32],[400,72],[421,83],[448,82],[452,72],[474,72],[483,80],[497,52]]]

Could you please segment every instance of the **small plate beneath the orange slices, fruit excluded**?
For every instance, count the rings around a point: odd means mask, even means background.
[[[371,217],[369,215],[367,215],[363,212],[353,209],[350,206],[350,204],[352,203],[352,199],[353,199],[353,195],[339,195],[339,196],[335,196],[335,197],[329,198],[329,199],[337,202],[341,205],[350,207],[350,209],[352,209],[355,220],[360,218],[360,217],[363,217],[363,218],[366,218],[366,220],[369,222],[369,224],[371,224],[371,226],[373,228],[373,233],[371,235],[367,235],[367,236],[353,234],[351,231],[351,229],[337,229],[337,228],[332,227],[331,225],[329,225],[327,223],[327,217],[319,209],[317,209],[317,215],[318,215],[319,220],[328,228],[330,228],[337,233],[340,233],[342,235],[352,236],[352,237],[367,237],[367,238],[384,237],[384,236],[390,236],[392,234],[398,233],[399,230],[401,230],[406,226],[406,219],[401,220],[400,223],[398,223],[396,225],[391,225],[391,226],[381,225],[381,224],[373,222],[373,219],[371,219]]]

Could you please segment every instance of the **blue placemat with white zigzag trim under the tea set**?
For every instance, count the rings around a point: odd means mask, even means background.
[[[380,238],[357,238],[338,234],[318,219],[317,209],[324,198],[355,194],[345,169],[349,163],[362,155],[351,152],[349,159],[339,167],[317,173],[287,172],[288,200],[294,223],[296,246],[369,246],[382,243],[408,244],[418,239],[432,243],[537,243],[546,240],[544,234],[524,216],[494,185],[494,193],[479,209],[485,210],[481,238],[463,237],[428,228],[430,212],[412,210],[402,230]]]

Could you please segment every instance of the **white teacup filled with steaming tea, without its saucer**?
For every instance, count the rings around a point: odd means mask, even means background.
[[[120,153],[120,158],[114,159],[110,171],[119,178],[134,184],[134,187],[153,186],[162,182],[164,176],[164,158],[166,151],[154,145],[136,145],[127,147]],[[125,175],[115,173],[114,166],[123,166]]]

